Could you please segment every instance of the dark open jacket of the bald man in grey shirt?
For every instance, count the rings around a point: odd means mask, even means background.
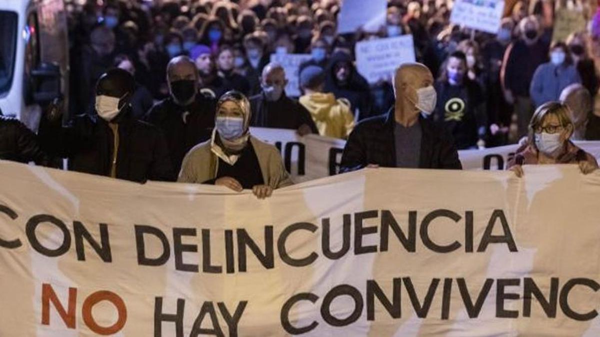
[[[359,170],[368,164],[396,167],[394,108],[386,115],[356,125],[341,157],[340,172]],[[462,169],[451,137],[431,121],[420,117],[422,128],[419,169]]]

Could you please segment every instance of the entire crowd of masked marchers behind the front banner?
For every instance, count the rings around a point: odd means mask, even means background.
[[[590,173],[596,160],[572,140],[600,139],[600,20],[552,41],[544,4],[516,2],[497,34],[485,34],[451,25],[446,1],[389,0],[378,32],[343,35],[338,0],[69,4],[69,109],[50,104],[37,134],[0,117],[0,158],[68,158],[74,171],[264,198],[292,184],[277,149],[251,136],[266,127],[346,139],[341,172],[461,169],[458,149],[520,142],[509,163],[518,176],[524,164]],[[368,83],[355,44],[403,34],[413,35],[417,62]],[[273,53],[310,54],[300,97],[287,95],[290,74],[269,62]]]

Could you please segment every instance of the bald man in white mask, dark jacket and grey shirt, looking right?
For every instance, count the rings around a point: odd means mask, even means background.
[[[401,65],[395,74],[396,101],[386,115],[365,119],[350,134],[340,171],[371,167],[462,169],[451,137],[430,118],[436,106],[431,71]]]

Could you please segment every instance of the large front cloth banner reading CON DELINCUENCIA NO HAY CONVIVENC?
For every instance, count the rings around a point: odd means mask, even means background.
[[[0,161],[0,336],[599,336],[600,173],[525,170],[258,200]]]

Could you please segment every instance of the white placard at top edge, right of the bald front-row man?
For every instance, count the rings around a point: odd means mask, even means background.
[[[503,0],[457,0],[450,22],[496,34],[504,13]]]

